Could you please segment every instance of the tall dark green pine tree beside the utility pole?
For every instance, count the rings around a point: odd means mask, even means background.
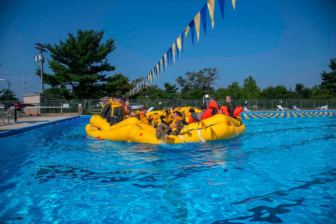
[[[116,39],[108,38],[101,43],[105,30],[78,30],[77,36],[68,33],[65,42],[59,45],[47,44],[52,61],[49,68],[53,75],[46,74],[44,82],[52,87],[66,85],[72,88],[73,99],[92,99],[103,96],[104,83],[107,81],[104,71],[115,70],[106,59],[116,47]]]

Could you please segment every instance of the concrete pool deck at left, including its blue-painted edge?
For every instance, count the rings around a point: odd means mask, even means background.
[[[82,115],[81,115],[82,116]],[[85,116],[85,115],[84,115]],[[5,125],[2,125],[3,122],[0,120],[0,138],[16,135],[18,133],[26,132],[28,130],[49,126],[55,123],[59,123],[65,120],[74,119],[80,117],[76,114],[52,114],[52,115],[32,115],[32,116],[18,116],[17,120],[14,121],[14,118],[5,121]]]

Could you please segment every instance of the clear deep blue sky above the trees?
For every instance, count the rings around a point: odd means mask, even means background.
[[[108,55],[130,80],[145,77],[193,20],[206,0],[171,1],[7,1],[1,3],[0,79],[7,79],[19,99],[41,92],[34,73],[34,43],[58,43],[68,32],[105,29],[116,38],[116,50]],[[215,1],[214,28],[207,12],[206,35],[201,22],[200,39],[191,33],[187,50],[153,84],[176,84],[177,76],[204,68],[220,69],[220,86],[251,75],[261,88],[295,83],[307,87],[321,83],[320,73],[336,58],[336,1],[334,0],[237,0],[236,10],[226,0],[224,20]],[[334,22],[332,22],[334,21]],[[50,59],[49,54],[45,54]],[[52,73],[48,64],[44,71]],[[0,82],[0,88],[6,83]],[[45,85],[45,88],[48,88]]]

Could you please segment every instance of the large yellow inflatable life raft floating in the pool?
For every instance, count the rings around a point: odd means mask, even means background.
[[[157,111],[160,113],[160,111]],[[184,125],[180,135],[167,136],[165,143],[185,143],[210,141],[217,139],[230,139],[244,133],[245,125],[241,123],[240,115],[237,119],[224,114],[216,114],[202,121]],[[139,121],[135,117],[127,118],[110,126],[102,117],[95,115],[90,119],[90,124],[85,127],[86,133],[99,139],[112,141],[138,142],[160,144],[162,141],[155,136],[156,128]],[[174,129],[173,129],[174,130]]]

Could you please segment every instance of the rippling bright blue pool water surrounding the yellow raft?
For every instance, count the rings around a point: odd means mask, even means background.
[[[334,223],[336,117],[245,119],[178,145],[65,122],[1,139],[0,223]]]

